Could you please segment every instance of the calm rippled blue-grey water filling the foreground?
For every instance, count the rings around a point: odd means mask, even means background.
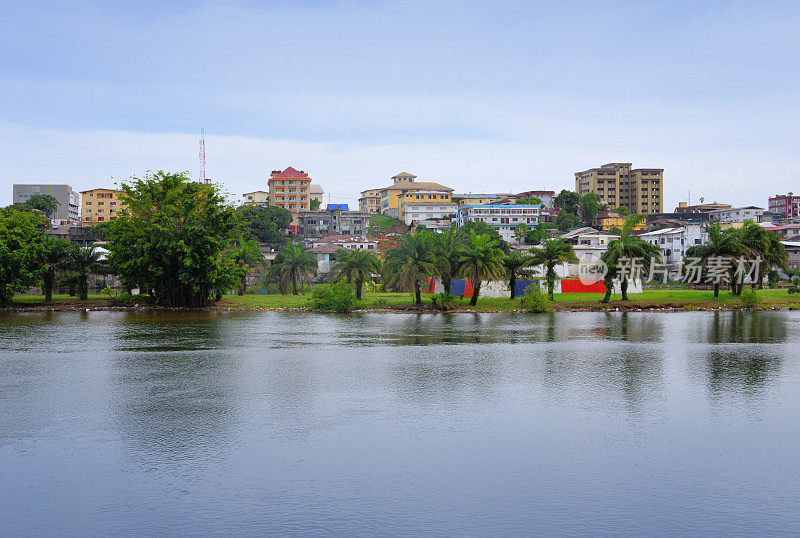
[[[0,534],[800,530],[800,315],[0,315]]]

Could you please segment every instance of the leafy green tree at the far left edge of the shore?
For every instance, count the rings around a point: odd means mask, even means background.
[[[7,208],[0,211],[0,305],[38,280],[36,260],[47,219],[40,213]]]

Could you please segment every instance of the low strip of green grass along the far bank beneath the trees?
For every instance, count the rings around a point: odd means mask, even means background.
[[[789,295],[785,289],[765,289],[758,291],[758,308],[763,310],[798,310],[800,295]],[[358,311],[368,312],[414,312],[442,311],[434,305],[434,296],[424,295],[423,305],[413,304],[413,296],[408,293],[365,293]],[[630,300],[621,301],[614,296],[611,302],[601,304],[598,293],[569,293],[555,296],[553,310],[562,312],[585,311],[637,311],[637,310],[736,310],[745,308],[738,297],[729,292],[721,292],[715,299],[713,292],[686,289],[651,289],[630,295]],[[310,294],[300,295],[226,295],[208,310],[280,310],[310,311]],[[6,311],[49,311],[49,310],[174,310],[149,305],[146,297],[128,304],[118,304],[105,295],[90,295],[86,301],[76,297],[57,295],[52,303],[45,303],[41,296],[18,296],[14,303],[3,308]],[[469,299],[459,299],[448,307],[449,312],[522,312],[519,299],[482,298],[471,306]]]

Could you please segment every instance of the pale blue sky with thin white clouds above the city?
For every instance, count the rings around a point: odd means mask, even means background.
[[[560,190],[613,161],[664,168],[667,211],[800,192],[798,2],[118,4],[0,0],[0,205],[196,177],[201,126],[237,197],[289,165],[355,203],[400,171]]]

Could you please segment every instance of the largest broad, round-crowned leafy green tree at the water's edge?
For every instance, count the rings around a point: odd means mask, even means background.
[[[218,187],[159,171],[121,188],[127,211],[109,226],[107,248],[123,284],[159,305],[196,308],[238,280],[229,252],[240,222]]]

